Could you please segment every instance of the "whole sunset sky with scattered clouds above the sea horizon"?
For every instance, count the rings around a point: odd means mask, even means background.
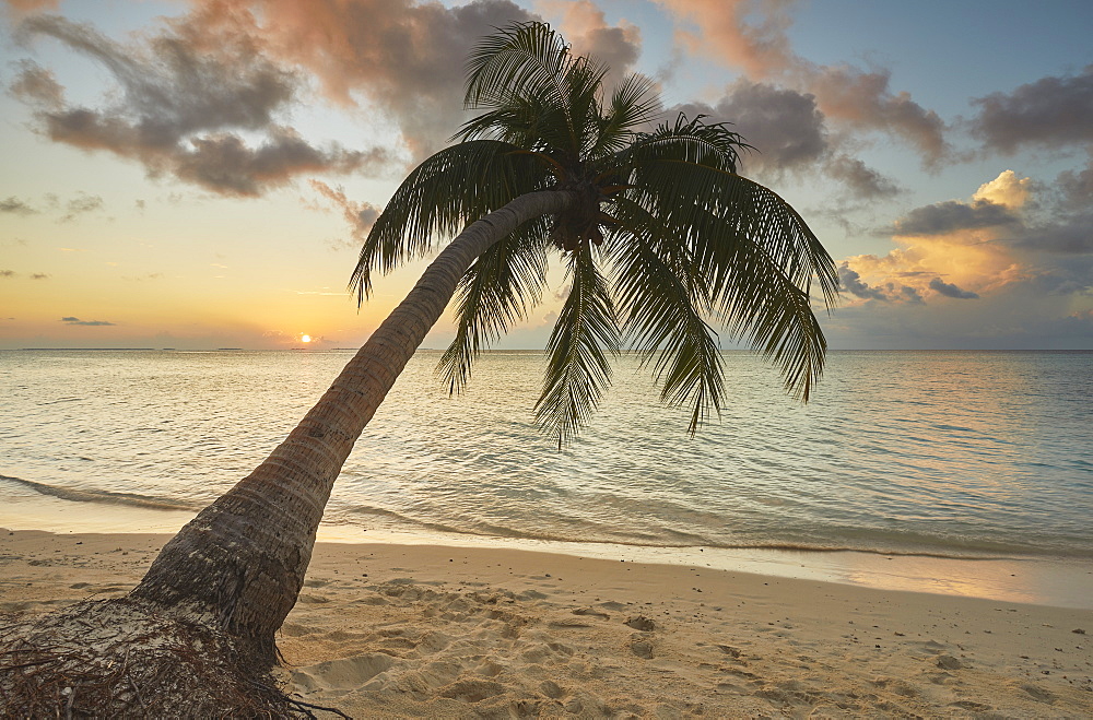
[[[1093,349],[1088,0],[0,8],[0,349],[359,346],[424,268],[359,309],[361,238],[468,117],[468,50],[528,20],[734,123],[838,265],[832,349]],[[495,346],[543,347],[550,278]]]

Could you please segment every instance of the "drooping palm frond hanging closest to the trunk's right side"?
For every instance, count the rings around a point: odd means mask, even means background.
[[[456,337],[440,356],[437,371],[448,391],[470,379],[479,353],[527,317],[546,284],[546,220],[540,219],[502,238],[479,256],[456,291]]]

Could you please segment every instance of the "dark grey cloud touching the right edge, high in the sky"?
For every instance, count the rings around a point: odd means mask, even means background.
[[[1012,93],[972,101],[972,134],[991,149],[1060,149],[1093,143],[1093,64],[1074,75],[1042,78]]]

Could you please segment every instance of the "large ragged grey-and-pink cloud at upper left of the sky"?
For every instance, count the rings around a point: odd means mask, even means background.
[[[124,46],[90,25],[38,15],[26,37],[47,35],[104,67],[117,99],[99,108],[71,106],[52,75],[24,62],[12,84],[35,108],[37,129],[83,150],[140,162],[151,177],[174,176],[213,192],[252,197],[301,173],[383,165],[388,154],[315,147],[278,121],[297,99],[293,72],[257,52],[254,39],[200,11],[168,21],[158,35]],[[257,134],[248,144],[240,132]]]

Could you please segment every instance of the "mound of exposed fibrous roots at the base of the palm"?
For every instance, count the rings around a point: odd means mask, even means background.
[[[310,709],[328,710],[284,695],[223,633],[149,603],[0,617],[3,717],[314,718]]]

